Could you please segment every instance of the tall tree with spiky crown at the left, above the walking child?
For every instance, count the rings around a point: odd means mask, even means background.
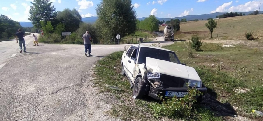
[[[32,22],[32,24],[36,28],[41,28],[40,21],[44,21],[47,23],[47,21],[55,22],[55,17],[57,15],[56,8],[50,2],[49,0],[34,0],[34,2],[30,2],[33,6],[30,6],[30,16],[28,18],[29,21]]]

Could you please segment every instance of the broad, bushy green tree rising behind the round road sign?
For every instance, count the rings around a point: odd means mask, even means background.
[[[96,8],[98,26],[105,39],[134,34],[136,31],[136,13],[132,0],[101,0]]]

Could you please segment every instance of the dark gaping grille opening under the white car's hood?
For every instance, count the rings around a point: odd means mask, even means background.
[[[170,75],[165,75],[161,74],[160,75],[160,82],[162,82],[162,87],[163,88],[168,88],[168,87],[186,87],[186,81],[183,78],[179,77],[174,77]]]

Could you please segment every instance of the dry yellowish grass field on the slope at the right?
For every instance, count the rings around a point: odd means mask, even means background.
[[[258,39],[263,39],[262,21],[263,14],[219,19],[219,28],[214,29],[212,39],[246,40],[244,34],[249,31],[253,31]],[[180,23],[180,32],[175,34],[176,38],[189,39],[192,34],[198,34],[202,39],[210,39],[209,29],[205,23],[207,20]],[[164,28],[165,26],[161,26],[159,30]]]

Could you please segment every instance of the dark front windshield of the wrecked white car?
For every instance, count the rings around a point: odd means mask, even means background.
[[[180,64],[180,61],[174,52],[154,49],[149,47],[141,47],[138,63],[139,64],[146,63],[146,57]]]

